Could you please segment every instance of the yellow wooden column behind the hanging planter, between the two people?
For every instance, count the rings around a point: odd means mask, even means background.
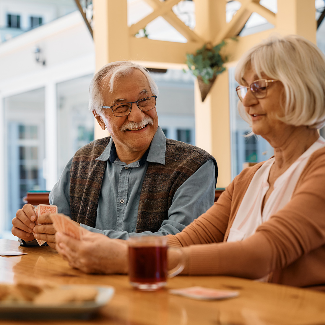
[[[195,17],[195,31],[213,41],[226,23],[226,1],[196,0]],[[228,72],[218,75],[203,103],[196,82],[194,98],[195,144],[214,156],[219,167],[217,187],[226,187],[231,181]]]

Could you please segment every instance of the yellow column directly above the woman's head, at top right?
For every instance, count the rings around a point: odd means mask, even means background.
[[[301,35],[316,44],[314,0],[279,0],[276,17],[279,33]]]

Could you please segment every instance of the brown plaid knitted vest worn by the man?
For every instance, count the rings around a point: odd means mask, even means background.
[[[90,227],[96,226],[98,199],[107,164],[96,158],[102,154],[109,141],[110,136],[95,140],[80,148],[72,159],[71,218]],[[209,159],[214,162],[217,180],[218,168],[214,157],[198,147],[167,139],[165,165],[154,162],[148,164],[140,193],[136,232],[158,231],[162,221],[168,217],[176,190]]]

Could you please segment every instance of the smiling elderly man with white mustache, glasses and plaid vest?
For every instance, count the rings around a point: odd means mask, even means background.
[[[109,137],[79,149],[49,199],[58,212],[92,232],[127,239],[129,234],[175,234],[214,202],[217,165],[204,150],[166,139],[158,126],[157,85],[132,62],[100,69],[90,85],[89,108]],[[24,244],[34,238],[55,247],[48,215],[35,226],[33,206],[13,219]],[[36,233],[32,235],[32,229]]]

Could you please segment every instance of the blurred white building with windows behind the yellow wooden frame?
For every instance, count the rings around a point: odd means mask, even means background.
[[[153,11],[143,0],[127,3],[128,26]],[[277,13],[277,0],[259,3]],[[81,0],[80,5],[93,27],[92,1]],[[239,1],[227,1],[227,22],[240,6]],[[315,1],[316,20],[324,8],[324,0]],[[173,6],[173,12],[194,29],[193,1],[180,1]],[[267,19],[253,12],[239,36],[272,28],[274,25]],[[317,30],[317,44],[323,52],[324,35],[322,23]],[[149,22],[136,37],[187,42],[162,17]],[[88,87],[95,70],[94,41],[74,0],[0,1],[0,237],[10,236],[11,219],[24,204],[26,192],[50,190],[74,152],[94,139]],[[152,69],[150,73],[160,90],[157,112],[165,135],[195,144],[194,77],[179,68]],[[273,155],[273,150],[261,138],[244,137],[249,126],[237,111],[234,65],[229,65],[225,73],[229,75],[233,178],[245,162],[263,161]]]

